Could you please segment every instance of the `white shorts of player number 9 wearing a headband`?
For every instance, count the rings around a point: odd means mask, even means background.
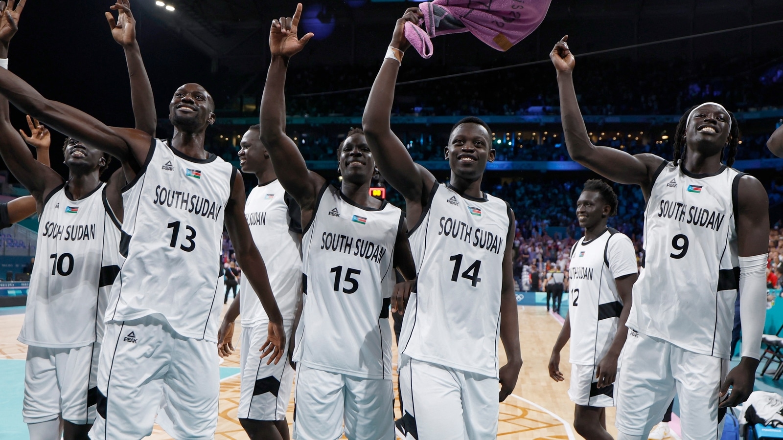
[[[615,383],[617,430],[647,438],[677,393],[682,438],[720,438],[719,393],[727,372],[728,359],[688,352],[629,330]]]

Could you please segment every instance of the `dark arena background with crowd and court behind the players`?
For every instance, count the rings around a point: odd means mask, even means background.
[[[112,4],[28,0],[9,51],[9,70],[49,99],[111,126],[132,127],[124,54],[103,16]],[[240,139],[259,121],[271,59],[269,24],[290,16],[296,4],[132,0],[137,39],[154,92],[157,137],[167,139],[173,132],[168,121],[172,92],[186,82],[199,83],[215,100],[216,120],[207,129],[206,150],[238,168]],[[290,61],[286,132],[309,168],[326,179],[339,181],[335,149],[349,129],[361,127],[395,20],[415,5],[403,0],[303,2],[299,34],[313,32],[315,37]],[[564,34],[576,56],[579,106],[596,145],[671,160],[677,122],[691,106],[714,101],[734,113],[742,132],[734,168],[759,179],[769,197],[769,310],[764,333],[776,334],[783,324],[783,158],[767,149],[767,139],[783,124],[780,0],[552,0],[543,23],[507,52],[491,49],[467,33],[434,38],[430,59],[414,50],[406,52],[391,128],[411,157],[441,182],[449,179],[444,147],[452,125],[478,116],[493,130],[496,160],[485,172],[482,190],[507,200],[516,215],[514,280],[525,359],[513,399],[500,407],[499,438],[581,438],[572,427],[568,386],[547,373],[550,350],[568,308],[557,315],[544,312],[547,300],[540,284],[555,267],[567,269],[572,244],[583,234],[576,220],[576,200],[587,179],[600,179],[572,161],[565,145],[556,72],[549,60]],[[24,114],[13,106],[11,111],[14,126],[27,131]],[[66,177],[60,149],[64,139],[52,131],[50,155],[52,168]],[[118,166],[115,161],[110,169]],[[0,201],[29,194],[2,163],[0,182]],[[257,180],[244,175],[244,182],[249,193]],[[402,197],[382,176],[373,186],[383,188],[392,204],[405,209]],[[619,208],[608,225],[633,240],[641,262],[644,197],[638,186],[612,186]],[[3,440],[28,438],[21,417],[24,363],[18,360],[25,359],[26,346],[16,341],[16,335],[37,233],[33,216],[0,235],[0,274],[6,274],[0,283]],[[224,236],[222,258],[229,262],[234,259],[233,244]],[[396,359],[396,346],[394,350]],[[781,369],[772,373],[775,366],[783,366],[781,355],[771,358],[778,364],[761,374],[761,362],[756,389],[780,393]],[[236,419],[238,359],[222,359],[216,438],[247,438]],[[561,369],[568,380],[565,355],[563,359]],[[736,364],[738,356],[734,359]],[[400,417],[399,406],[395,411]],[[672,438],[680,431],[677,402],[674,413]],[[612,435],[614,414],[615,409],[608,410]],[[169,437],[156,427],[152,438]]]

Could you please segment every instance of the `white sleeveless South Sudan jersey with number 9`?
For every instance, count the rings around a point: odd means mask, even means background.
[[[729,357],[738,287],[742,173],[661,164],[644,211],[642,270],[627,326],[690,352]]]

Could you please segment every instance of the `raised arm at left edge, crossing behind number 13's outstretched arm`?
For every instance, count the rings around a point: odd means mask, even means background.
[[[18,30],[24,3],[25,0],[22,0],[14,9],[13,0],[8,5],[5,5],[5,2],[0,2],[0,8],[2,8],[2,13],[0,13],[0,58],[8,59],[9,43]],[[0,70],[7,73],[6,69],[0,68]],[[63,178],[55,171],[34,159],[30,149],[13,128],[9,119],[8,100],[5,99],[5,96],[0,96],[0,156],[5,160],[6,166],[14,177],[22,182],[22,185],[33,194],[38,202],[43,199],[46,189],[54,188],[63,182]]]

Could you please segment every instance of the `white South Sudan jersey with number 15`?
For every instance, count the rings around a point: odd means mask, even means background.
[[[332,373],[391,377],[388,307],[399,207],[360,207],[324,185],[302,238],[304,310],[294,361]]]

